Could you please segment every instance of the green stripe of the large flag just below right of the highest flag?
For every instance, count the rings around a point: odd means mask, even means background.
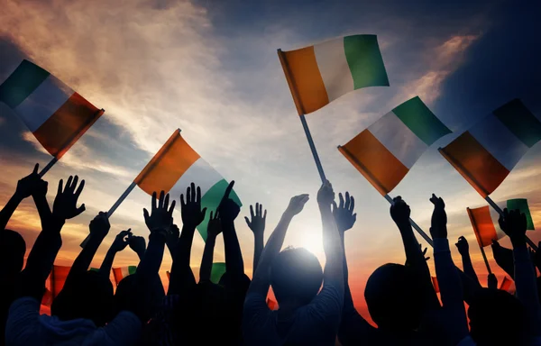
[[[430,146],[451,130],[428,109],[419,96],[415,96],[392,110],[411,132]]]

